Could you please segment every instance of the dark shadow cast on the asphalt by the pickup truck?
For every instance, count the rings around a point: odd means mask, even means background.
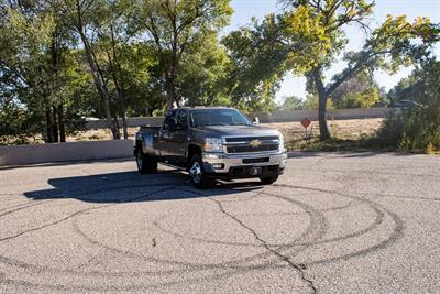
[[[74,198],[87,203],[133,203],[216,197],[261,189],[258,181],[215,183],[209,189],[193,187],[186,173],[158,171],[141,175],[138,172],[91,174],[51,178],[48,189],[25,192],[34,200]]]

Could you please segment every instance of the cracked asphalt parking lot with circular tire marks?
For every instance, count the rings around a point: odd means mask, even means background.
[[[276,184],[0,170],[0,292],[439,293],[440,157],[293,154]]]

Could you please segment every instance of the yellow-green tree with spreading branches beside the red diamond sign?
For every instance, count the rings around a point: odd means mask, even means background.
[[[330,138],[326,120],[327,100],[343,81],[366,68],[373,70],[381,67],[395,72],[399,65],[410,64],[411,52],[428,54],[429,47],[438,41],[438,25],[431,24],[426,18],[409,23],[405,17],[388,17],[382,25],[371,31],[367,17],[373,11],[373,1],[290,0],[284,3],[284,13],[268,15],[261,25],[244,28],[241,33],[233,32],[231,35],[241,34],[242,39],[250,40],[249,44],[267,43],[265,47],[272,53],[264,52],[263,58],[274,56],[271,59],[280,64],[275,75],[266,74],[272,78],[279,77],[279,69],[294,70],[308,77],[319,97],[321,140]],[[343,28],[350,24],[364,28],[367,41],[360,52],[343,54],[346,68],[326,85],[323,73],[344,52],[348,40]],[[260,40],[255,37],[258,32],[265,31],[275,33],[263,35]],[[260,50],[255,51],[260,53]],[[285,56],[283,62],[279,62],[279,56]],[[264,70],[270,69],[264,67]]]

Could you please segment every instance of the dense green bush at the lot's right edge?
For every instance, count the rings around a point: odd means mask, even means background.
[[[440,152],[440,62],[425,62],[413,75],[413,99],[422,107],[394,113],[378,132],[383,145],[416,152]]]

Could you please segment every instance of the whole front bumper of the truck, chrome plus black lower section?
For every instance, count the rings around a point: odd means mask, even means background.
[[[262,152],[248,154],[202,153],[205,172],[212,176],[255,177],[252,167],[262,167],[260,176],[273,176],[283,173],[287,165],[287,152]],[[237,171],[242,171],[237,173]]]

